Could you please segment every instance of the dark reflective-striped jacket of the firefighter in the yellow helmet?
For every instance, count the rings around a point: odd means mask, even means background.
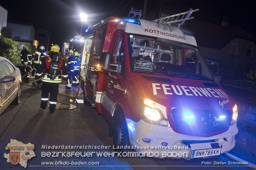
[[[43,77],[42,78],[42,82],[49,82],[49,83],[61,83],[61,70],[62,70],[62,74],[63,74],[63,80],[66,81],[67,80],[67,76],[68,76],[68,67],[67,64],[65,62],[64,59],[60,59],[60,63],[59,63],[59,69],[58,69],[58,73],[56,76],[51,77],[50,75],[50,65],[52,63],[52,59],[53,59],[53,54],[50,54],[50,56],[45,56],[44,58],[42,58],[38,71],[37,71],[37,75],[38,77]]]

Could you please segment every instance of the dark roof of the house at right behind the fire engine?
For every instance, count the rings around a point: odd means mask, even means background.
[[[196,38],[198,46],[221,49],[234,38],[256,42],[256,37],[239,25],[223,27],[199,20],[186,22],[186,25],[184,24],[181,29],[190,29]]]

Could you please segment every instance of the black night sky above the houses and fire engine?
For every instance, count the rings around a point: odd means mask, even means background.
[[[195,19],[220,25],[223,17],[229,25],[240,25],[256,36],[255,0],[148,0],[148,17],[156,19],[162,13],[173,15],[199,8]],[[50,31],[50,44],[62,45],[80,35],[79,13],[88,15],[87,23],[95,24],[109,16],[127,16],[131,7],[143,10],[144,0],[1,0],[8,10],[8,21],[33,23],[35,28]]]

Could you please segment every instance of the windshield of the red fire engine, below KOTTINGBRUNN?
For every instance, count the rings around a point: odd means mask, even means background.
[[[128,35],[132,72],[213,80],[197,48],[175,41]]]

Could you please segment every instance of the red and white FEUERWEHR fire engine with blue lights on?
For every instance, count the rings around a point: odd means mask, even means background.
[[[80,70],[84,103],[110,124],[115,147],[158,152],[159,158],[173,157],[163,153],[179,148],[187,154],[174,158],[184,159],[234,148],[236,103],[214,81],[196,39],[179,29],[192,11],[147,21],[131,10],[134,18],[111,16],[87,29]]]

